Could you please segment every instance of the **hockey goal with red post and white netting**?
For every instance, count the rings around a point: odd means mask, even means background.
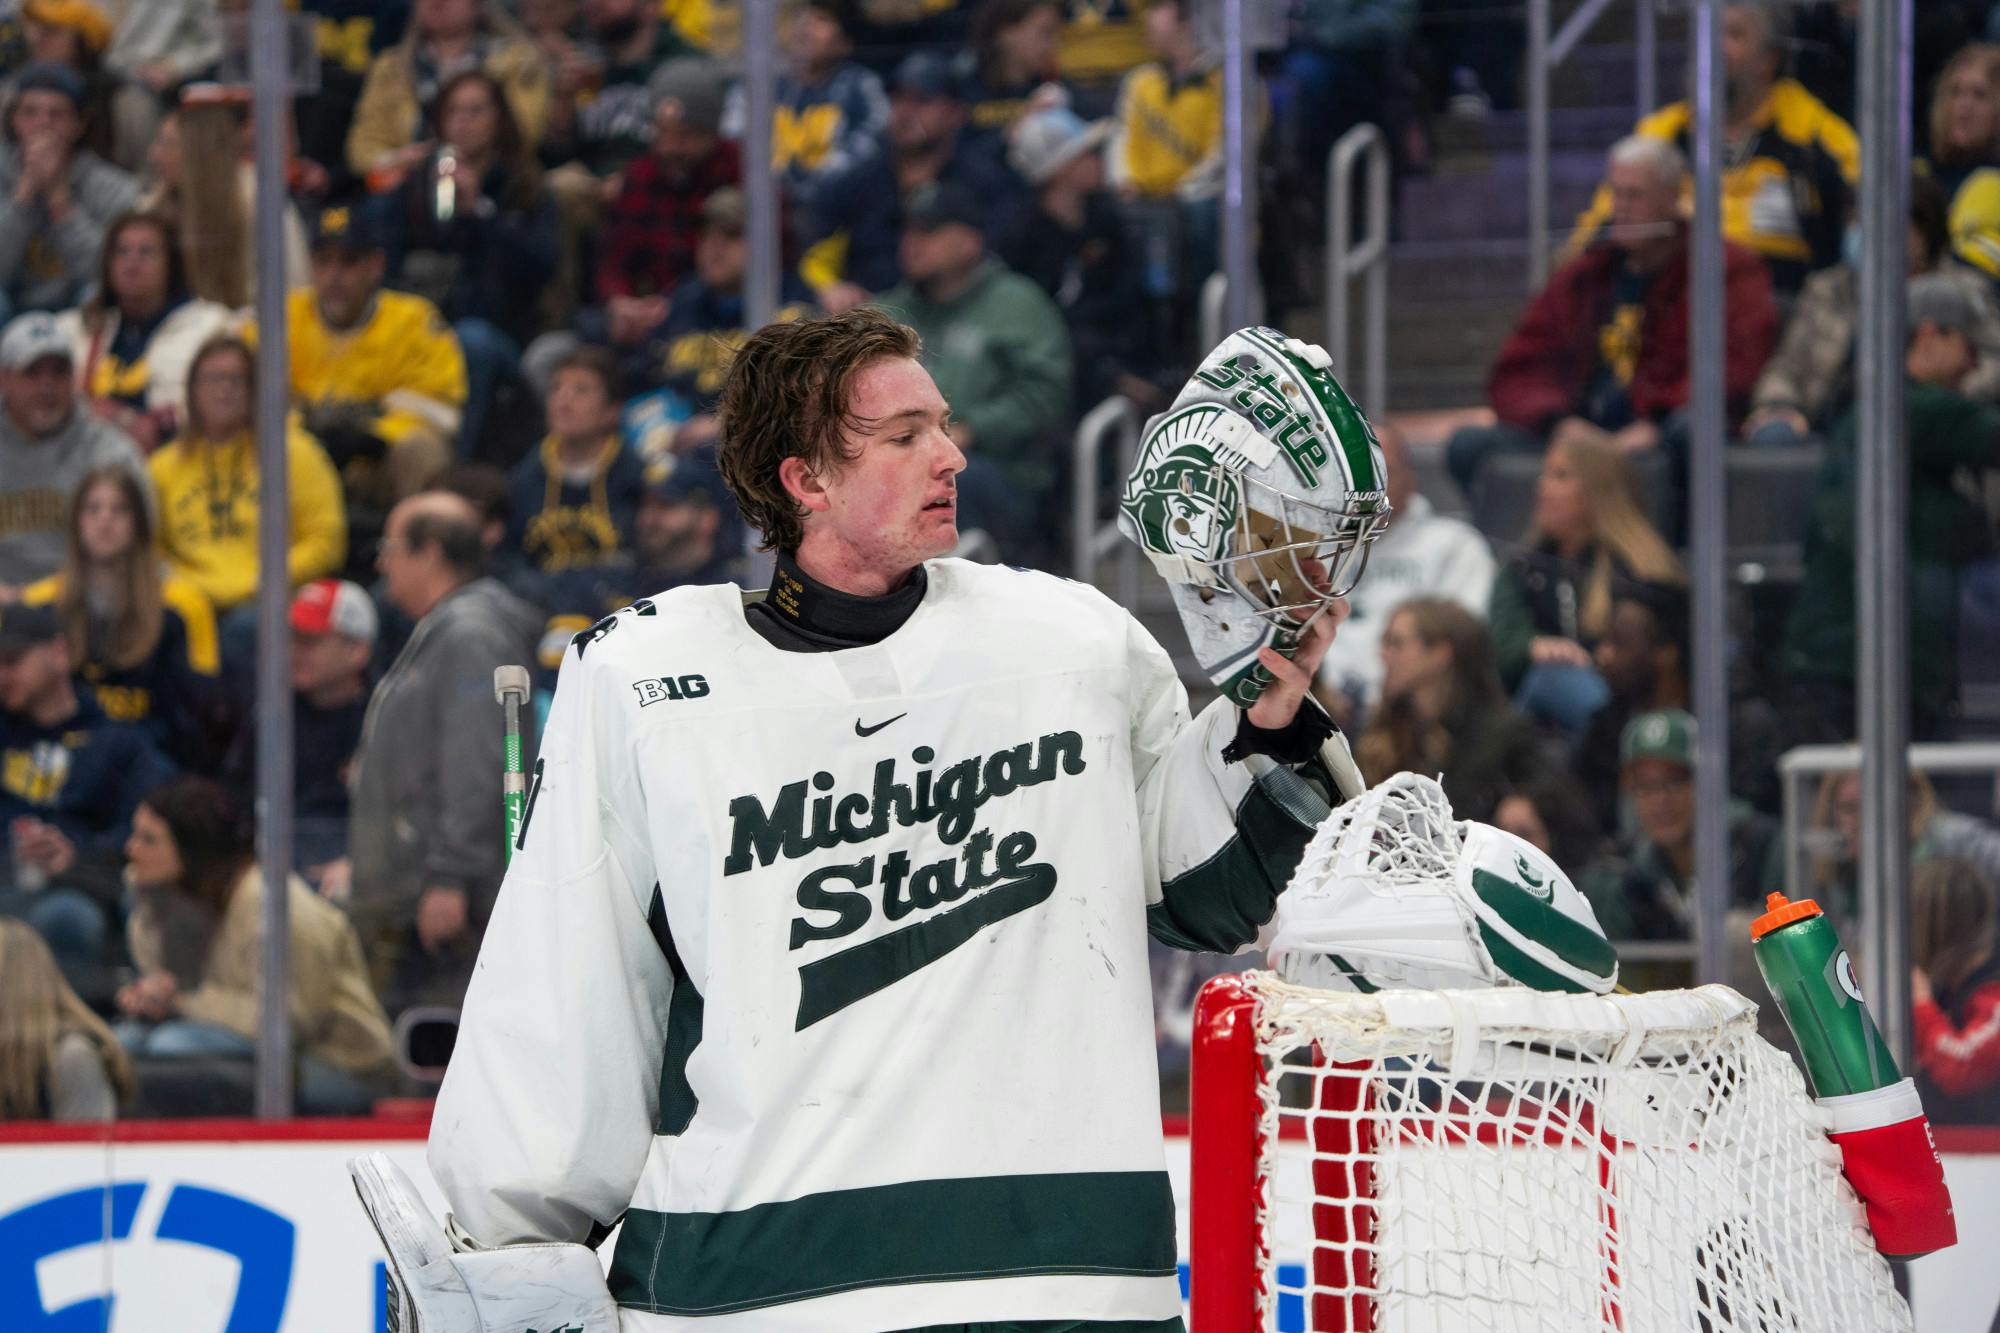
[[[1726,987],[1196,1007],[1192,1333],[1910,1329],[1818,1107]]]

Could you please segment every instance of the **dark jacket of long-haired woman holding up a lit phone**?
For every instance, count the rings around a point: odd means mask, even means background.
[[[526,346],[540,332],[542,290],[556,276],[560,218],[548,190],[520,198],[506,170],[480,180],[480,200],[438,222],[438,158],[382,198],[390,284],[428,298],[450,322],[486,320]]]

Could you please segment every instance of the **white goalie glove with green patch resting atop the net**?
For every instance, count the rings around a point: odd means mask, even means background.
[[[1398,773],[1336,809],[1278,897],[1270,963],[1336,991],[1504,987],[1610,993],[1618,955],[1540,849],[1454,821]]]

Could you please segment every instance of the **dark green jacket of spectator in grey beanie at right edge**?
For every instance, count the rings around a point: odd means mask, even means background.
[[[1984,516],[1952,488],[1958,468],[2000,458],[2000,410],[1934,384],[1908,386],[1910,693],[1940,715],[1958,691],[1958,570],[1986,540]],[[1806,570],[1784,632],[1794,679],[1854,681],[1856,422],[1834,426],[1806,528]]]

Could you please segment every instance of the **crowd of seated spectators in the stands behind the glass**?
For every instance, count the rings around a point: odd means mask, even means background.
[[[738,6],[294,8],[318,80],[260,264],[246,0],[0,0],[0,1117],[246,1097],[254,604],[278,578],[258,564],[266,268],[286,288],[302,1109],[366,1111],[442,1063],[394,1033],[450,1015],[500,885],[494,666],[534,664],[546,703],[600,616],[746,574],[716,466],[748,334]],[[1932,8],[1912,703],[1920,739],[1952,739],[1978,725],[1962,662],[2000,642],[2000,14]],[[1722,22],[1730,450],[1808,474],[1796,568],[1732,592],[1740,913],[1782,883],[1778,753],[1854,731],[1860,146],[1836,10]],[[1412,174],[1438,118],[1514,114],[1510,14],[1270,6],[1254,176],[1274,322],[1310,304],[1302,238],[1324,232],[1348,126],[1380,124]],[[968,456],[968,544],[998,558],[1062,570],[1076,422],[1112,394],[1162,408],[1206,350],[1218,32],[1206,0],[782,6],[774,318],[874,302],[922,334]],[[1462,819],[1542,845],[1616,939],[1650,943],[1686,941],[1694,911],[1688,136],[1672,102],[1608,148],[1486,410],[1436,438],[1378,422],[1396,516],[1318,691],[1370,781],[1442,775]],[[1496,500],[1530,472],[1522,502]],[[1918,1063],[1994,1119],[2000,831],[1916,783]],[[1856,791],[1824,783],[1808,857],[1846,919]]]

